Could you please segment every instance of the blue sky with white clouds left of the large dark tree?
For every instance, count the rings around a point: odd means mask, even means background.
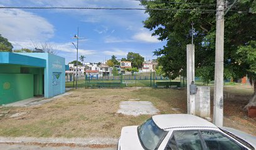
[[[50,6],[92,8],[142,8],[132,0],[1,0],[1,6]],[[79,27],[81,39],[78,56],[85,61],[101,62],[114,54],[126,58],[128,52],[139,53],[146,59],[166,42],[152,37],[143,27],[147,18],[137,10],[80,10],[80,9],[0,9],[0,34],[12,42],[14,49],[40,47],[48,43],[66,63],[76,59],[72,37]]]

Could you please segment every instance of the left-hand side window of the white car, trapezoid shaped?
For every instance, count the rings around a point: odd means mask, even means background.
[[[198,131],[174,131],[166,149],[200,150],[203,149]],[[175,145],[176,144],[176,145]]]

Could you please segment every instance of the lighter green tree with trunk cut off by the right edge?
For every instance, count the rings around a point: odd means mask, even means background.
[[[250,106],[256,106],[256,41],[250,41],[245,46],[238,47],[237,54],[237,63],[243,68],[247,68],[244,74],[254,86],[252,99],[245,106],[248,109]]]

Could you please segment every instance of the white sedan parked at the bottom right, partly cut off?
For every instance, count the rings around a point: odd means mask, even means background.
[[[122,128],[118,150],[245,150],[256,148],[256,137],[232,128],[218,128],[190,114],[160,114],[141,126]]]

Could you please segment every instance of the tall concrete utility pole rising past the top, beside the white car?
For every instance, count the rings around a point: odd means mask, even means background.
[[[223,126],[224,1],[217,0],[213,123]]]

